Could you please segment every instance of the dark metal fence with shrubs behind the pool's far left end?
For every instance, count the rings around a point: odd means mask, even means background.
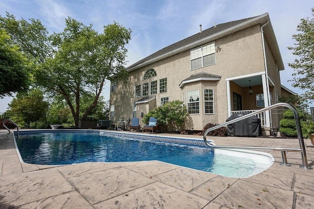
[[[2,128],[2,120],[10,119],[14,121],[21,128],[51,128],[52,124],[61,124],[64,128],[76,128],[75,121],[72,116],[55,116],[47,115],[40,121],[30,122],[27,124],[20,114],[15,113],[0,113],[0,128]],[[81,118],[80,118],[81,119]],[[85,121],[98,123],[99,118],[88,117]]]

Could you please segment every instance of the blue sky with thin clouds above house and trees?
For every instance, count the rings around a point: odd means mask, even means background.
[[[94,29],[117,22],[131,28],[127,66],[157,50],[187,38],[214,23],[226,23],[254,17],[268,12],[285,70],[281,71],[282,85],[295,93],[288,82],[293,70],[288,63],[295,57],[288,46],[293,46],[292,35],[302,18],[312,18],[313,0],[0,0],[0,15],[5,12],[17,19],[39,19],[52,32],[60,32],[69,16]],[[109,82],[105,100],[109,99]],[[0,113],[6,111],[12,97],[0,99]]]

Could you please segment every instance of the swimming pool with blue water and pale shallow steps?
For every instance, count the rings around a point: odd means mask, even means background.
[[[92,130],[20,131],[17,147],[23,162],[31,164],[158,160],[236,178],[255,175],[273,163],[265,153],[214,150],[198,139]]]

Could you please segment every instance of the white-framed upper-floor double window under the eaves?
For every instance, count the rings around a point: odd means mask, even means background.
[[[191,70],[216,63],[215,43],[210,43],[190,51]]]

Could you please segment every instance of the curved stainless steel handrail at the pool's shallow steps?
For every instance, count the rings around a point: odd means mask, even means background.
[[[221,128],[223,126],[227,126],[231,123],[234,123],[234,122],[237,122],[237,121],[240,121],[242,119],[245,119],[245,118],[248,118],[250,116],[255,116],[256,114],[259,114],[259,113],[262,113],[262,112],[265,112],[267,110],[271,110],[271,109],[274,109],[276,107],[288,107],[290,110],[292,110],[293,112],[293,115],[294,115],[294,120],[295,120],[295,123],[296,123],[296,130],[297,130],[297,135],[298,135],[298,139],[299,139],[299,144],[300,144],[300,148],[281,148],[281,147],[254,147],[254,146],[218,146],[216,144],[213,143],[213,140],[208,140],[206,139],[206,136],[207,134],[210,132],[210,131],[213,131],[215,129],[218,129],[218,128]],[[311,166],[309,166],[308,164],[308,160],[307,160],[307,157],[306,157],[306,151],[305,151],[305,145],[304,145],[304,139],[303,139],[303,136],[302,136],[302,129],[301,129],[301,123],[300,123],[300,118],[299,118],[299,114],[298,114],[298,111],[295,109],[295,107],[293,107],[292,105],[288,104],[288,103],[277,103],[277,104],[274,104],[274,105],[271,105],[269,107],[265,107],[261,110],[258,110],[256,112],[253,112],[253,113],[250,113],[248,115],[244,115],[244,116],[241,116],[241,117],[238,117],[238,118],[235,118],[233,120],[230,120],[228,122],[225,122],[225,123],[222,123],[220,125],[217,125],[217,126],[214,126],[212,128],[209,128],[205,131],[204,133],[204,142],[206,145],[208,145],[209,147],[214,147],[214,148],[228,148],[228,149],[272,149],[272,150],[280,150],[281,153],[282,153],[282,158],[283,158],[283,163],[281,163],[282,165],[287,165],[289,166],[290,164],[287,163],[287,156],[286,156],[286,151],[292,151],[292,152],[301,152],[301,155],[302,155],[302,162],[303,162],[303,165],[300,165],[301,168],[305,168],[305,169],[312,169]]]

